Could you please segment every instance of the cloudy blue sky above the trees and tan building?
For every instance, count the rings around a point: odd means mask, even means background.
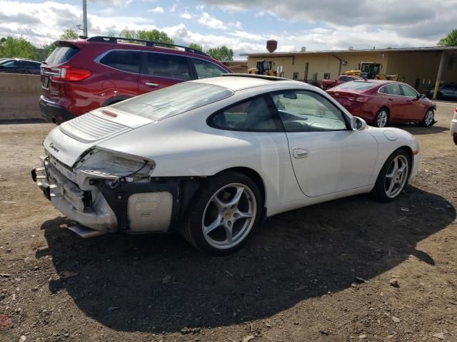
[[[81,2],[0,0],[0,36],[50,43],[82,24]],[[89,36],[156,28],[238,57],[270,38],[278,51],[434,46],[457,28],[457,0],[88,0],[88,16]]]

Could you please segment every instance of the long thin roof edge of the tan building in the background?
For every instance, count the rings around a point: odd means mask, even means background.
[[[288,51],[288,52],[252,52],[240,53],[240,56],[291,56],[323,53],[369,53],[369,52],[426,52],[426,51],[457,51],[457,46],[428,46],[422,48],[368,48],[362,50],[322,50],[322,51]]]

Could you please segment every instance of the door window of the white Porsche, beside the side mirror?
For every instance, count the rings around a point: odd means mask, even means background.
[[[333,103],[311,91],[271,94],[286,132],[346,130],[346,120]]]

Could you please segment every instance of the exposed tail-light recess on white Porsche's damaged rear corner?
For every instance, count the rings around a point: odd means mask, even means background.
[[[154,170],[153,160],[119,155],[105,150],[92,150],[76,165],[76,177],[115,180],[119,177],[149,177]]]

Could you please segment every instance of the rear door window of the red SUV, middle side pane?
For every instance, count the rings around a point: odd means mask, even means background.
[[[146,53],[146,73],[151,76],[174,78],[188,81],[191,79],[187,58],[171,53]]]

